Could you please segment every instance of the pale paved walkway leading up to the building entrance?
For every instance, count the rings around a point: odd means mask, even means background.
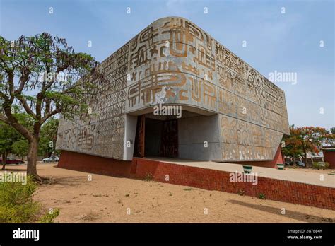
[[[222,170],[225,172],[243,172],[242,164],[233,163],[216,163],[213,161],[196,161],[196,160],[183,160],[177,158],[146,158],[150,160],[159,160],[164,163],[173,163],[177,165],[187,165],[197,168],[207,168],[213,170]],[[254,166],[252,172],[257,172],[259,177],[270,177],[276,180],[288,180],[293,182],[300,182],[311,185],[320,185],[335,188],[335,175],[328,175],[334,170],[329,170],[326,173],[319,172],[305,172],[299,170],[278,170],[275,168],[261,168]],[[320,180],[320,175],[324,176],[324,180]]]

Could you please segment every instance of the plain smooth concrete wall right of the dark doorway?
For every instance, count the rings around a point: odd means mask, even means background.
[[[221,160],[220,145],[218,115],[178,119],[179,158]]]

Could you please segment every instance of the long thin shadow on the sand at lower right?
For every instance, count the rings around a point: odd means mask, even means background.
[[[265,211],[268,213],[274,213],[276,215],[281,215],[287,218],[293,218],[298,221],[304,221],[307,223],[334,223],[335,218],[325,218],[321,216],[310,215],[307,213],[291,211],[285,209],[285,214],[281,214],[281,209],[278,209],[273,206],[266,206],[266,205],[259,205],[259,204],[250,204],[244,201],[237,201],[237,200],[228,200],[231,204],[237,204],[240,206],[246,206],[248,208],[257,209],[260,211]]]

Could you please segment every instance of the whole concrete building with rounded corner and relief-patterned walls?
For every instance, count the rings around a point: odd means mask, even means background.
[[[107,82],[97,81],[104,90],[91,100],[92,114],[61,117],[61,158],[281,162],[289,134],[283,90],[191,21],[158,19],[99,69]]]

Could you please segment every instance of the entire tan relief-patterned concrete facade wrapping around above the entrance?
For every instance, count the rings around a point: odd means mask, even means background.
[[[61,121],[58,148],[122,158],[124,115],[166,103],[217,112],[223,160],[274,157],[288,117],[283,90],[184,18],[163,18],[100,64],[90,124]],[[158,94],[160,95],[160,94]]]

